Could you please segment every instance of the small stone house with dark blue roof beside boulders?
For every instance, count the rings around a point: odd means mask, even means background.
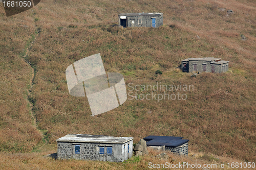
[[[176,136],[147,136],[143,138],[147,147],[160,147],[179,155],[188,155],[188,141]]]

